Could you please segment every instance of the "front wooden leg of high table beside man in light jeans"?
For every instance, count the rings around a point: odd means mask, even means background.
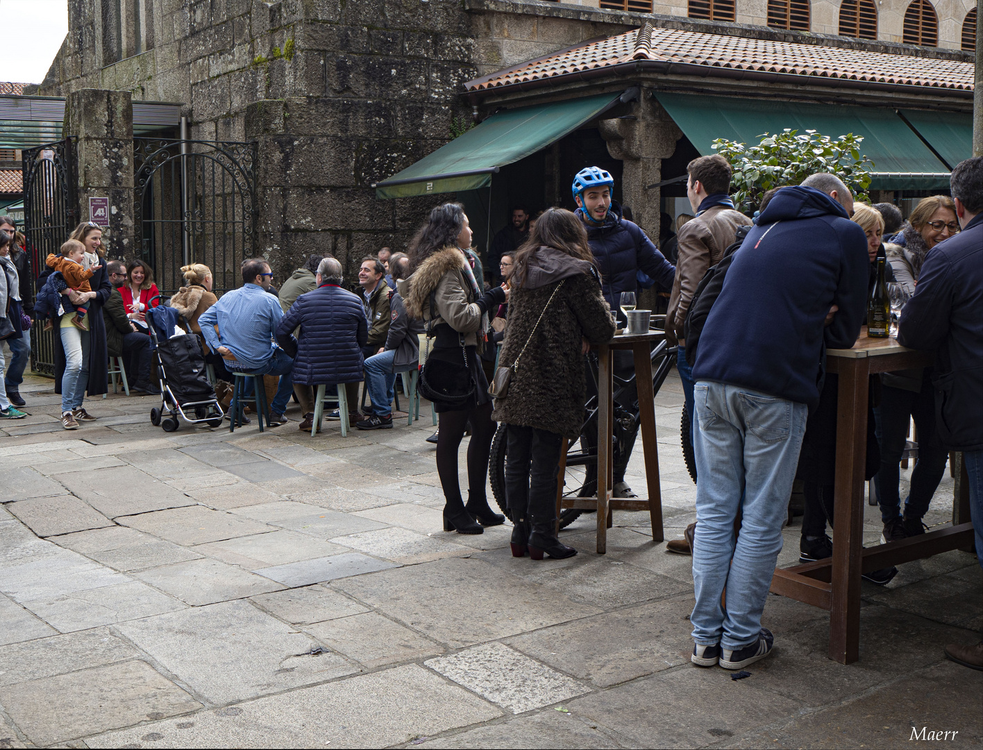
[[[867,453],[869,368],[866,357],[843,359],[839,363],[830,659],[844,664],[856,662],[860,651],[863,475]]]

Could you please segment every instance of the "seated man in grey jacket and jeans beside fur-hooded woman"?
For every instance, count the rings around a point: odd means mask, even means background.
[[[389,270],[397,280],[397,287],[408,274],[410,260],[403,256],[390,260]],[[389,332],[385,346],[365,361],[369,396],[372,398],[373,416],[359,422],[359,430],[388,430],[392,428],[392,400],[395,397],[396,373],[412,368],[420,360],[420,334],[424,332],[422,320],[406,314],[403,298],[398,292],[389,298]]]

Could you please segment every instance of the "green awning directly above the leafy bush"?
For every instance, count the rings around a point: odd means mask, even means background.
[[[710,146],[718,138],[757,144],[763,134],[774,135],[785,128],[815,130],[832,139],[852,133],[863,136],[860,148],[874,162],[872,189],[949,187],[949,169],[893,109],[684,93],[656,95],[702,154],[714,153]]]

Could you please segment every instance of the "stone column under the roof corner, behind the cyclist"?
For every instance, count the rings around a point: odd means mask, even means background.
[[[632,104],[631,115],[601,120],[600,127],[607,152],[623,162],[622,201],[631,207],[635,223],[658,245],[661,191],[646,186],[662,180],[663,159],[675,151],[682,132],[648,89],[642,89],[640,101]],[[643,295],[639,307],[656,309],[655,289]]]

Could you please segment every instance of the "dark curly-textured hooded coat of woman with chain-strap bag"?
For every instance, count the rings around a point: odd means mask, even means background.
[[[508,328],[498,367],[509,367],[523,347],[526,350],[512,373],[505,398],[495,400],[492,419],[574,438],[584,426],[587,398],[581,337],[593,344],[610,340],[614,319],[589,262],[540,248],[529,264],[523,284],[513,288],[509,297]],[[562,287],[549,303],[560,283]],[[543,319],[536,327],[541,314]]]

